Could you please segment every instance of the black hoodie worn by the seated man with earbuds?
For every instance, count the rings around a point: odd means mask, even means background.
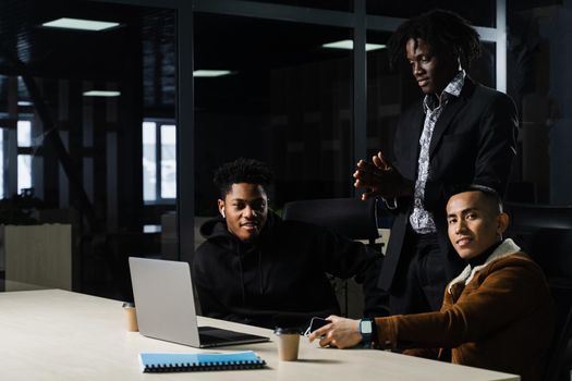
[[[361,243],[272,212],[254,243],[239,241],[220,217],[205,222],[200,234],[207,241],[192,269],[204,316],[275,328],[339,315],[327,273],[365,281],[366,315],[385,315],[385,293],[375,288],[380,256]]]

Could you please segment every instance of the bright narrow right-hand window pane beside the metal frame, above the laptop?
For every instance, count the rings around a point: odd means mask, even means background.
[[[177,128],[161,125],[161,198],[177,197]]]

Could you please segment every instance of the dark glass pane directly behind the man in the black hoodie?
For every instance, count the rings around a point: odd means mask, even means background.
[[[206,13],[194,26],[195,67],[232,71],[195,78],[196,223],[217,212],[214,170],[239,157],[273,169],[275,209],[350,197],[352,50],[322,46],[351,29]]]

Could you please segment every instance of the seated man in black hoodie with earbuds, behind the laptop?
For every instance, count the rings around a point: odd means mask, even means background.
[[[272,172],[238,159],[215,173],[220,217],[207,221],[207,238],[193,260],[204,316],[275,328],[304,327],[312,317],[339,314],[327,273],[363,283],[366,316],[387,315],[376,287],[379,255],[324,228],[282,221],[268,210]]]

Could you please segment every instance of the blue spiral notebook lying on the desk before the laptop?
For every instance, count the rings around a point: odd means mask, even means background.
[[[254,352],[232,353],[142,353],[143,372],[261,369],[266,361]]]

